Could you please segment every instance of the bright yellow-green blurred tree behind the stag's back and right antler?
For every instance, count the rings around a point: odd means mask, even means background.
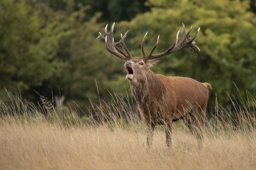
[[[164,57],[153,71],[210,83],[213,88],[210,107],[214,107],[215,92],[223,106],[230,104],[226,93],[241,99],[236,86],[242,98],[247,98],[245,90],[256,93],[256,16],[249,11],[249,1],[148,0],[147,5],[150,12],[118,24],[118,32],[129,29],[126,42],[133,56],[141,56],[140,46],[146,31],[149,32],[145,50],[149,52],[160,35],[154,52],[160,53],[172,45],[182,22],[187,30],[193,25],[191,35],[200,27],[195,42],[201,52],[190,56],[191,49],[185,48]]]

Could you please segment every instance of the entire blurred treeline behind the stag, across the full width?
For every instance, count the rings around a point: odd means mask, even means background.
[[[213,88],[208,108],[216,96],[228,106],[227,94],[237,100],[256,94],[255,11],[256,0],[1,0],[0,98],[7,95],[5,88],[20,90],[32,102],[39,100],[37,91],[49,99],[65,95],[83,106],[88,98],[97,102],[98,93],[105,99],[108,91],[124,96],[129,91],[124,60],[96,40],[98,32],[105,35],[105,25],[110,29],[116,22],[115,40],[129,30],[127,47],[141,56],[147,31],[146,53],[158,35],[155,53],[160,53],[184,23],[187,31],[193,26],[191,35],[200,27],[195,41],[201,52],[191,56],[191,48],[182,49],[152,70],[208,82]]]

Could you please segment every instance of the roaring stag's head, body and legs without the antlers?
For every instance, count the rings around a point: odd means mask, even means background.
[[[207,86],[211,88],[210,84],[200,83],[191,78],[154,74],[149,67],[160,60],[144,62],[135,57],[124,64],[132,95],[148,127],[147,145],[150,146],[152,143],[152,133],[157,124],[165,126],[168,139],[172,122],[182,119],[189,125],[186,116],[197,119],[197,124],[190,123],[191,131],[196,133],[201,141],[209,92]],[[171,140],[168,139],[166,143],[169,146]]]

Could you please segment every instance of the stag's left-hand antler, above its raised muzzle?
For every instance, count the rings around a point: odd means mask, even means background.
[[[121,59],[124,59],[124,60],[129,60],[132,58],[132,55],[131,53],[129,52],[129,50],[127,49],[127,47],[125,46],[125,43],[124,43],[124,39],[125,37],[127,36],[127,32],[124,34],[124,36],[121,34],[121,40],[118,41],[117,43],[114,42],[114,38],[113,38],[113,30],[114,30],[114,25],[115,23],[112,25],[111,29],[110,29],[110,32],[108,32],[107,28],[108,28],[108,24],[106,25],[105,27],[105,33],[106,33],[106,37],[104,37],[101,32],[99,32],[99,36],[97,37],[98,38],[101,38],[103,40],[105,40],[105,47],[106,49],[118,56],[119,58]],[[123,44],[123,46],[122,46]],[[127,54],[125,54],[125,52],[123,52],[120,48],[118,47],[122,47],[124,48],[124,50],[127,52]]]

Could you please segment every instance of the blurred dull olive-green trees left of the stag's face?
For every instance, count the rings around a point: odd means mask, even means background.
[[[123,63],[95,40],[105,24],[97,23],[99,13],[84,21],[87,9],[79,5],[78,11],[54,11],[34,0],[1,1],[1,89],[19,87],[24,98],[34,101],[38,96],[33,90],[48,98],[61,90],[67,98],[87,99],[97,98],[97,80],[102,96],[106,89],[125,92],[123,70],[111,67]],[[114,86],[116,81],[121,87]]]

